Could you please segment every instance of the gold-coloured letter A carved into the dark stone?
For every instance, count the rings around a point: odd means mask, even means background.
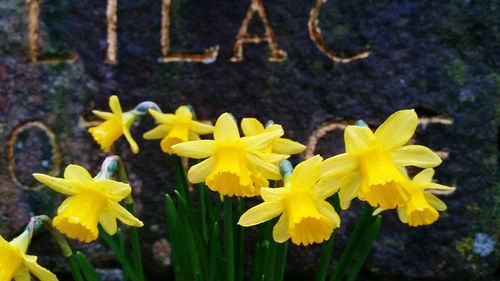
[[[258,13],[262,23],[264,24],[266,33],[263,36],[248,34],[248,26],[250,25],[250,21],[255,13]],[[243,60],[243,44],[259,44],[261,42],[267,42],[271,48],[271,56],[268,58],[269,61],[278,62],[286,59],[286,52],[278,46],[278,40],[276,39],[273,29],[271,28],[271,24],[267,18],[262,0],[252,0],[252,4],[248,9],[247,15],[245,16],[245,19],[241,24],[240,31],[238,32],[238,36],[236,37],[234,54],[233,57],[231,57],[231,61]]]

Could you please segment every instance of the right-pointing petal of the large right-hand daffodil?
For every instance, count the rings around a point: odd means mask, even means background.
[[[394,163],[399,166],[432,168],[442,162],[436,153],[422,145],[403,146],[391,151],[391,156]]]

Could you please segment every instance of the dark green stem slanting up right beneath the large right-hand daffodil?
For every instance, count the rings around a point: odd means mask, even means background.
[[[361,214],[361,217],[358,219],[356,223],[356,227],[351,234],[351,237],[347,241],[347,245],[342,252],[340,257],[340,261],[337,264],[337,268],[335,269],[333,276],[331,278],[332,281],[340,281],[349,266],[349,263],[352,261],[353,254],[355,253],[356,248],[361,243],[361,239],[363,238],[363,234],[366,229],[370,226],[370,219],[372,218],[374,208],[371,206],[366,206]]]

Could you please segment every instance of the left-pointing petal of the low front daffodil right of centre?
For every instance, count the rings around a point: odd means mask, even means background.
[[[241,215],[238,224],[252,226],[277,217],[283,212],[285,205],[282,200],[261,203]]]

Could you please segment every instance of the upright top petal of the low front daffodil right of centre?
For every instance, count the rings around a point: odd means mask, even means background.
[[[299,163],[292,173],[292,189],[310,190],[318,182],[323,158],[316,155]]]

